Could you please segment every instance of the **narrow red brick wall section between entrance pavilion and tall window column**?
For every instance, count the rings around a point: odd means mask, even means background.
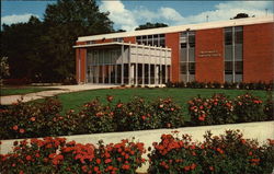
[[[165,34],[165,46],[171,48],[171,81],[178,82],[179,79],[179,33]]]

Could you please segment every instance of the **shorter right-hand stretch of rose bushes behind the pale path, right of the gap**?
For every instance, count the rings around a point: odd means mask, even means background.
[[[189,101],[189,113],[193,125],[220,125],[247,121],[273,120],[272,95],[263,102],[251,94],[230,100],[224,94],[212,97],[194,97]]]

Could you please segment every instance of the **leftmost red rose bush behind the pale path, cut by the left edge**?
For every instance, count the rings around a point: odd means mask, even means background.
[[[0,139],[45,137],[52,128],[52,120],[61,111],[56,98],[44,103],[14,103],[10,108],[0,109]]]

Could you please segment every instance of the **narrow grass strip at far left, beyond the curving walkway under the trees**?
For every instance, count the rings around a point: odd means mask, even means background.
[[[1,86],[1,96],[28,94],[41,91],[57,90],[54,88],[41,88],[41,86]]]

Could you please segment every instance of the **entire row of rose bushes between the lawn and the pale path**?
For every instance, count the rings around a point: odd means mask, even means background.
[[[60,114],[61,103],[47,98],[43,103],[16,103],[0,109],[0,139],[69,136],[95,132],[132,131],[185,126],[273,120],[273,100],[262,101],[250,94],[230,100],[222,94],[189,102],[191,123],[185,123],[181,107],[171,98],[151,102],[136,97],[127,103],[107,104],[91,101],[79,113]]]

